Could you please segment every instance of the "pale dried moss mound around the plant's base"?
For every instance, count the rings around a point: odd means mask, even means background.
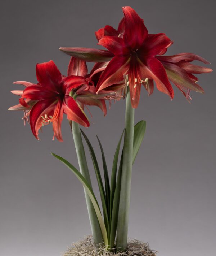
[[[148,243],[143,243],[138,240],[132,239],[128,241],[127,251],[118,251],[117,253],[107,251],[103,244],[97,249],[94,246],[92,236],[87,236],[78,242],[73,243],[71,248],[63,256],[156,256],[157,251],[152,251]]]

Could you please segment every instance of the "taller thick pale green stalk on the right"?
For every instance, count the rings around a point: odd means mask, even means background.
[[[116,247],[126,250],[127,230],[129,220],[131,172],[133,162],[133,140],[134,140],[134,108],[131,106],[130,91],[127,87],[126,109],[125,109],[125,136],[123,165],[121,177],[120,204],[118,212],[118,227]]]

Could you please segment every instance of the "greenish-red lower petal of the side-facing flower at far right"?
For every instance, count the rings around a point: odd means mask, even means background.
[[[166,69],[168,78],[175,84],[178,84],[181,88],[187,88],[196,92],[204,93],[202,87],[192,80],[186,71],[176,64],[163,62],[163,66]]]

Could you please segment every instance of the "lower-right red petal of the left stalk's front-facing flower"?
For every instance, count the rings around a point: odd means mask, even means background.
[[[67,114],[67,119],[75,121],[85,127],[89,127],[89,120],[72,97],[66,96],[64,98],[63,109],[64,113]]]

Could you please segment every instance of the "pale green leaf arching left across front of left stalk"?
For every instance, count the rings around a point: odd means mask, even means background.
[[[101,212],[100,212],[100,208],[99,208],[99,205],[98,205],[98,201],[94,195],[94,192],[93,190],[91,189],[89,183],[86,181],[86,179],[82,176],[82,174],[71,164],[69,163],[67,160],[65,160],[63,157],[60,157],[58,155],[55,155],[54,153],[51,153],[54,157],[56,157],[58,160],[60,160],[61,162],[63,162],[63,164],[65,164],[75,175],[76,177],[78,178],[78,180],[82,183],[82,185],[85,187],[86,189],[86,192],[87,194],[89,195],[89,198],[91,199],[91,202],[94,206],[94,209],[95,209],[95,212],[96,212],[96,215],[98,217],[98,221],[99,221],[99,224],[100,224],[100,229],[101,229],[101,232],[102,232],[102,235],[103,235],[103,240],[104,240],[104,243],[106,245],[108,245],[108,237],[107,237],[107,230],[106,230],[106,227],[105,227],[105,224],[104,224],[104,220],[103,220],[103,217],[101,215]]]

